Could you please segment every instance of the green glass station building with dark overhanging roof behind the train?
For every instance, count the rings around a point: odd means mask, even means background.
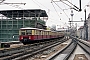
[[[0,42],[18,41],[19,29],[22,27],[35,27],[45,29],[47,18],[45,10],[2,10],[0,11]]]

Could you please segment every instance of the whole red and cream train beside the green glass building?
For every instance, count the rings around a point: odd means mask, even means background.
[[[23,44],[30,44],[37,41],[56,39],[64,36],[64,34],[60,32],[31,27],[20,28],[19,35],[19,40]]]

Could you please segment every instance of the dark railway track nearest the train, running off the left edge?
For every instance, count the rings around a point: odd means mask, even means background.
[[[51,42],[51,41],[49,41]],[[28,49],[32,49],[34,47],[36,47],[37,45],[42,45],[42,44],[46,44],[48,43],[48,41],[45,41],[44,43],[34,43],[32,45],[23,45],[23,46],[20,46],[20,47],[15,47],[15,48],[6,48],[6,49],[3,49],[3,50],[0,50],[0,58],[1,57],[4,57],[4,56],[8,56],[8,55],[12,55],[12,54],[16,54],[16,53],[20,53],[20,52],[23,52],[24,50],[28,50]]]

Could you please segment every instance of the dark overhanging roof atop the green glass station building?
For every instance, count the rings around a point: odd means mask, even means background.
[[[41,9],[25,9],[25,10],[2,10],[0,14],[9,18],[19,17],[48,17],[45,10]]]

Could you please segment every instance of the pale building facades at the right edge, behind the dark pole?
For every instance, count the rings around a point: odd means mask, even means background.
[[[86,25],[87,25],[87,31],[88,31],[88,40],[90,40],[90,14],[88,15],[88,18],[86,20]],[[79,38],[85,40],[86,39],[86,26],[84,24],[84,26],[81,26],[78,29],[77,35]]]

